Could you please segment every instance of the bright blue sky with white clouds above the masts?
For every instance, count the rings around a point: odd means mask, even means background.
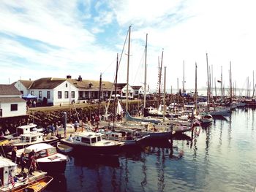
[[[252,88],[255,7],[254,0],[1,0],[0,83],[67,74],[99,80],[101,73],[113,82],[117,54],[118,82],[127,82],[131,26],[129,85],[143,85],[146,63],[146,82],[156,89],[162,61],[166,89],[182,88],[183,66],[185,89],[195,88],[195,63],[197,87],[206,87],[207,53],[213,81],[222,69],[229,87],[231,62],[233,84],[246,88],[249,77]]]

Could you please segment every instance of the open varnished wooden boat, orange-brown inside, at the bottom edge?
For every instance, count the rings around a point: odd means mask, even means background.
[[[31,181],[28,185],[18,188],[15,192],[38,192],[43,191],[53,180],[53,177],[45,176],[38,180]]]

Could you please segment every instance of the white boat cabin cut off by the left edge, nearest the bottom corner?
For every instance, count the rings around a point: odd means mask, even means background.
[[[9,176],[12,177],[17,173],[17,164],[10,161],[8,158],[0,156],[0,186],[8,185]]]

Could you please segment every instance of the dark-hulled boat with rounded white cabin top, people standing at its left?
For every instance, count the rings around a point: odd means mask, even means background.
[[[54,173],[64,173],[66,169],[66,164],[68,158],[66,155],[57,153],[56,147],[46,143],[37,143],[30,145],[25,149],[17,150],[17,158],[20,159],[21,153],[25,153],[26,161],[29,161],[29,153],[34,150],[36,154],[37,169],[43,172],[54,172]],[[11,153],[8,153],[11,155]]]

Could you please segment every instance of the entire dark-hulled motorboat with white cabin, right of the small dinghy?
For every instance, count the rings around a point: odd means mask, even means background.
[[[69,145],[78,153],[96,155],[116,155],[124,142],[111,141],[102,138],[101,133],[83,131],[61,139],[61,143]]]

